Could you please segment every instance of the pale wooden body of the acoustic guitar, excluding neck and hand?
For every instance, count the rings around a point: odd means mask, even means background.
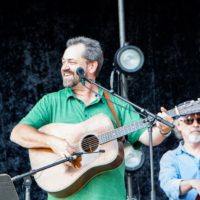
[[[67,197],[80,190],[97,174],[118,167],[124,158],[121,142],[115,139],[104,144],[97,143],[94,148],[86,145],[87,142],[84,143],[113,129],[111,120],[104,114],[95,115],[79,124],[51,123],[43,126],[40,129],[42,132],[65,138],[71,146],[77,149],[77,152],[88,153],[81,156],[79,168],[63,163],[38,172],[34,175],[37,184],[56,197]],[[105,152],[94,153],[99,150]],[[29,158],[32,169],[38,169],[63,159],[52,150],[44,148],[29,149]]]

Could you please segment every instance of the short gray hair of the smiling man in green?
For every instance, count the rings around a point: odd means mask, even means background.
[[[83,44],[85,46],[85,52],[83,57],[89,61],[97,61],[98,67],[96,71],[96,75],[99,74],[101,68],[103,66],[103,51],[100,43],[97,40],[87,38],[84,36],[74,37],[67,41],[66,46],[70,47],[76,44]]]

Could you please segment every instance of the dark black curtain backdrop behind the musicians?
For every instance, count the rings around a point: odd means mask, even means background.
[[[61,57],[66,40],[87,36],[101,42],[105,62],[99,81],[109,88],[113,57],[119,48],[117,0],[4,1],[0,7],[0,173],[11,177],[30,170],[27,151],[9,141],[14,125],[44,94],[62,88]],[[128,97],[157,113],[199,97],[200,2],[125,0],[126,41],[140,47],[143,68],[130,76]],[[157,199],[159,159],[178,141],[171,135],[154,148]],[[150,199],[149,149],[133,174],[133,192]],[[15,182],[23,199],[23,181]],[[33,181],[32,200],[46,195]],[[139,197],[138,197],[139,198]]]

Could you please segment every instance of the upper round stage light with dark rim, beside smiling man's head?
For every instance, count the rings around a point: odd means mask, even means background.
[[[144,64],[144,54],[140,48],[125,44],[114,56],[114,65],[124,73],[138,71]]]

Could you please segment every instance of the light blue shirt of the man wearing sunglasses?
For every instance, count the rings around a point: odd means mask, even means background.
[[[181,141],[176,149],[167,151],[160,160],[160,186],[170,200],[195,200],[198,194],[195,189],[180,196],[180,182],[189,179],[200,179],[200,159],[188,153]]]

